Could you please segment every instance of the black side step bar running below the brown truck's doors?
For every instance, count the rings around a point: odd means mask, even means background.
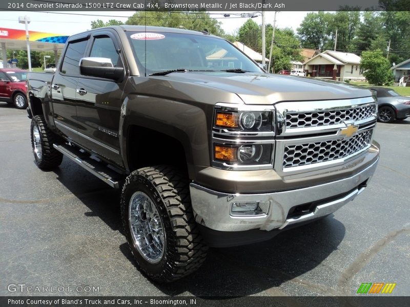
[[[64,156],[70,158],[78,165],[84,167],[95,177],[103,180],[113,188],[119,189],[119,187],[121,186],[123,180],[121,175],[105,164],[91,159],[86,153],[83,153],[70,145],[54,144],[53,146],[59,152],[63,153]]]

